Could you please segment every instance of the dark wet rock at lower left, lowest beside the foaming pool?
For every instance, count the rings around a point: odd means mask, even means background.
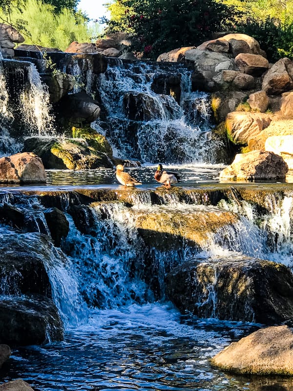
[[[52,299],[5,296],[0,299],[0,343],[41,345],[63,340],[63,325]]]

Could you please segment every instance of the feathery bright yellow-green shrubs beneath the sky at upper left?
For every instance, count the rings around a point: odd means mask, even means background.
[[[0,18],[5,20],[5,15]],[[21,27],[26,44],[64,50],[71,42],[93,42],[100,33],[98,24],[89,25],[81,13],[66,8],[56,14],[54,7],[41,0],[26,0],[22,9],[13,8],[11,22]]]

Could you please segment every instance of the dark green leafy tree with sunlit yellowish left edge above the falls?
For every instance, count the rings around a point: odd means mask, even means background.
[[[117,0],[109,5],[107,32],[124,31],[145,57],[180,46],[198,45],[239,17],[233,6],[215,0]]]

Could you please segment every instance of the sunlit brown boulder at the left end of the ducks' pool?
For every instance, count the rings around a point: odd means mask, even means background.
[[[46,177],[42,160],[34,153],[22,152],[0,158],[2,183],[43,183]]]

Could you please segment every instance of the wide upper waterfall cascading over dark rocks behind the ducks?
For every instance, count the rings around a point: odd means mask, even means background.
[[[96,83],[104,114],[93,126],[122,158],[215,162],[220,142],[211,137],[210,97],[191,92],[190,77],[183,65],[112,59]]]

